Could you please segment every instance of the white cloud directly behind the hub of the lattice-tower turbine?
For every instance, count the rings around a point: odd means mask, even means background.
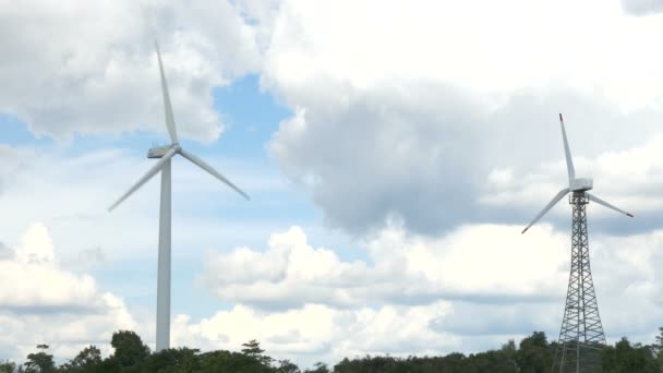
[[[577,142],[580,143],[581,142]],[[635,213],[644,214],[643,219],[628,222],[650,224],[652,214],[660,210],[663,200],[659,190],[663,185],[663,137],[653,136],[644,144],[627,151],[613,152],[610,145],[594,157],[574,157],[577,177],[592,177],[594,190],[591,192],[614,205]],[[494,168],[487,176],[484,190],[478,196],[480,204],[531,209],[537,212],[563,188],[568,185],[564,153],[559,149],[559,160],[537,164],[518,171],[513,168]],[[566,204],[566,201],[563,201]],[[556,209],[556,210],[562,210]],[[567,210],[568,212],[568,210]],[[616,213],[598,206],[592,207],[599,218],[622,218]],[[613,220],[614,220],[613,219]]]

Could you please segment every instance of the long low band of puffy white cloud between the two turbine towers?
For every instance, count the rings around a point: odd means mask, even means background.
[[[550,228],[521,237],[513,226],[468,226],[435,240],[391,227],[365,242],[371,262],[345,262],[293,227],[264,252],[210,253],[202,281],[224,300],[265,309],[546,302],[562,296],[553,289],[566,275],[565,241]]]

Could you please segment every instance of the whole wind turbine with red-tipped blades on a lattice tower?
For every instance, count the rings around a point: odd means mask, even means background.
[[[564,153],[566,155],[568,186],[562,189],[553,197],[553,201],[543,207],[543,210],[522,230],[522,233],[534,222],[539,221],[565,195],[572,193],[569,197],[569,204],[572,206],[571,267],[564,320],[559,332],[557,350],[555,351],[553,371],[588,372],[598,366],[598,351],[605,345],[605,335],[601,325],[590,268],[586,206],[589,201],[592,201],[626,216],[634,216],[590,194],[588,191],[593,186],[592,179],[576,178],[574,160],[566,139],[562,115],[559,115],[559,123],[564,141]]]

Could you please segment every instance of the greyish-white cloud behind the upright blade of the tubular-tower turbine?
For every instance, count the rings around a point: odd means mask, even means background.
[[[4,2],[0,112],[57,139],[164,133],[156,38],[180,133],[215,140],[224,123],[212,88],[260,67],[260,31],[241,13],[227,1]]]

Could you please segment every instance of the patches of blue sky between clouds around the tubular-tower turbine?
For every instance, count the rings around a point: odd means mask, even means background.
[[[159,93],[156,92],[155,95]],[[233,219],[239,221],[251,221],[268,225],[275,230],[285,230],[290,225],[313,225],[322,224],[320,209],[315,208],[301,190],[287,185],[287,182],[278,177],[278,165],[269,156],[266,144],[278,129],[281,120],[286,119],[290,112],[287,108],[278,105],[275,99],[265,92],[261,92],[260,76],[246,75],[233,82],[231,85],[213,91],[214,107],[227,124],[224,136],[218,142],[201,144],[195,141],[184,140],[181,145],[188,151],[203,157],[204,159],[220,155],[229,163],[240,163],[251,170],[267,172],[268,178],[274,183],[280,184],[274,191],[252,192],[250,202],[243,201],[218,183],[215,179],[208,178],[210,184],[218,184],[217,195],[204,196],[205,200],[230,200],[229,203],[221,205],[210,203],[207,205],[190,205],[173,201],[176,210],[186,209],[197,216],[215,218],[222,221]],[[176,104],[177,106],[177,104]],[[177,110],[177,107],[176,107]],[[7,145],[16,147],[33,147],[36,149],[57,149],[64,157],[81,156],[87,152],[100,148],[122,148],[133,156],[141,157],[146,154],[147,148],[153,144],[167,144],[168,139],[162,133],[146,131],[135,131],[122,133],[119,136],[108,135],[75,135],[65,144],[59,144],[48,136],[35,136],[25,122],[10,116],[2,117],[3,131],[7,134]],[[178,123],[179,127],[185,125]],[[165,128],[165,124],[164,124]],[[182,158],[183,159],[183,158]],[[185,160],[178,159],[173,165],[173,172],[178,172],[181,167],[195,168]],[[203,172],[203,171],[200,171]],[[204,172],[203,172],[204,173]],[[232,178],[231,175],[227,175]],[[137,179],[136,175],[134,179]],[[135,180],[128,179],[123,182],[131,185]],[[156,180],[157,178],[155,178]],[[152,184],[156,182],[152,181]],[[178,185],[174,184],[173,189]],[[123,192],[118,191],[118,195]],[[146,193],[146,191],[142,191]],[[303,194],[303,195],[302,195]],[[110,205],[112,201],[108,201]],[[126,202],[131,203],[131,198]],[[158,205],[154,206],[158,212]],[[95,212],[106,213],[106,212]],[[63,212],[63,214],[65,214]],[[156,213],[155,213],[156,215]],[[172,263],[172,312],[185,313],[194,318],[207,316],[209,310],[227,310],[231,303],[219,301],[209,296],[209,291],[196,284],[196,276],[204,270],[204,263],[198,256],[186,253],[184,248],[178,248],[178,237],[186,236],[186,232],[178,232],[178,216],[173,216],[173,263]],[[157,237],[158,231],[143,232],[148,237]],[[337,252],[346,260],[365,258],[359,250],[353,250],[352,244],[339,232],[320,230],[312,234],[313,239],[338,246]],[[237,245],[248,244],[255,248],[264,245],[266,237],[264,231],[233,237]],[[93,246],[97,242],[89,240]],[[111,260],[93,268],[92,274],[99,280],[104,290],[122,293],[129,306],[144,308],[147,312],[153,312],[156,302],[156,246],[154,253],[147,254],[150,260],[141,257],[138,261],[131,257],[122,260]],[[232,246],[219,248],[228,251]]]

